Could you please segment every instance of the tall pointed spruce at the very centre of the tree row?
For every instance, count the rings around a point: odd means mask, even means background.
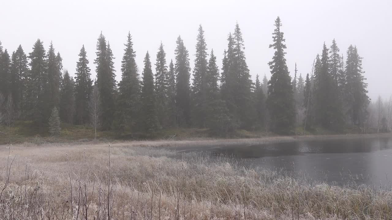
[[[196,38],[196,57],[193,69],[192,86],[192,115],[193,124],[204,128],[207,114],[207,43],[204,38],[203,27],[199,25]]]

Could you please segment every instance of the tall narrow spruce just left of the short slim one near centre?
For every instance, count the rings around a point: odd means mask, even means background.
[[[155,94],[156,94],[156,110],[158,115],[159,123],[163,127],[170,125],[168,121],[168,104],[169,97],[167,96],[168,90],[168,72],[166,65],[166,53],[163,49],[163,43],[158,48],[156,53],[155,63]]]

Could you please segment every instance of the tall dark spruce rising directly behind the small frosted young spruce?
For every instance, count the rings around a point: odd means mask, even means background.
[[[61,60],[61,59],[60,59]],[[50,43],[49,50],[47,52],[47,84],[45,88],[45,118],[49,119],[51,111],[54,107],[58,108],[58,102],[60,99],[60,75],[61,75],[61,64],[55,54],[53,42]],[[61,66],[60,66],[61,65]]]

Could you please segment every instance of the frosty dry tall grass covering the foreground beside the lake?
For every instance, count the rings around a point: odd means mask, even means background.
[[[0,219],[392,219],[389,190],[156,148],[169,143],[2,146]]]

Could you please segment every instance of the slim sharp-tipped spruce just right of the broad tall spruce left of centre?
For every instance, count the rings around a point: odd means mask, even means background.
[[[142,118],[143,128],[147,132],[159,129],[158,117],[156,115],[156,99],[154,91],[154,76],[152,75],[150,54],[147,51],[144,58],[143,82],[142,82]]]

